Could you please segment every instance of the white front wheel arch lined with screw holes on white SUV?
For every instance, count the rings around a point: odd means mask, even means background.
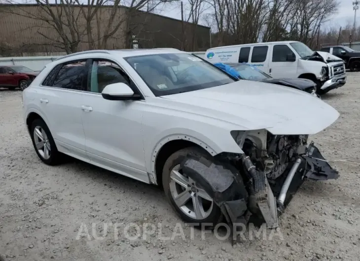
[[[216,151],[207,143],[185,134],[177,134],[165,137],[157,143],[151,155],[151,172],[149,173],[150,182],[160,185],[162,177],[162,169],[166,160],[174,152],[187,147],[197,147],[203,149],[209,155],[215,156]]]

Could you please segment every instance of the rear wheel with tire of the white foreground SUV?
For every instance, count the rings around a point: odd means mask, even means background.
[[[62,155],[56,148],[51,132],[43,120],[36,119],[33,121],[31,124],[30,135],[36,154],[43,163],[56,165],[61,162]],[[42,140],[45,138],[45,144],[43,144],[43,142],[42,144],[39,143],[41,140],[40,136],[42,137]],[[36,144],[39,144],[39,149],[36,147]],[[41,145],[43,146],[41,147]]]

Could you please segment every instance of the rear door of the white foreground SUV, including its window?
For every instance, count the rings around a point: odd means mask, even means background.
[[[86,60],[57,65],[37,88],[38,106],[46,114],[58,149],[88,161],[81,122],[81,98],[87,86]]]

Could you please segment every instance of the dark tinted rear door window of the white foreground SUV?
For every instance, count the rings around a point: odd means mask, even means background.
[[[63,64],[55,77],[53,87],[86,91],[87,71],[86,61],[76,61]]]

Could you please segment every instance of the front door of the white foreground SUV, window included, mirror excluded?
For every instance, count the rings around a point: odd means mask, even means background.
[[[129,77],[115,63],[94,60],[88,91],[81,106],[85,148],[91,163],[134,179],[148,181],[141,131],[144,100],[107,100],[101,95],[112,83],[123,82],[134,90]]]

